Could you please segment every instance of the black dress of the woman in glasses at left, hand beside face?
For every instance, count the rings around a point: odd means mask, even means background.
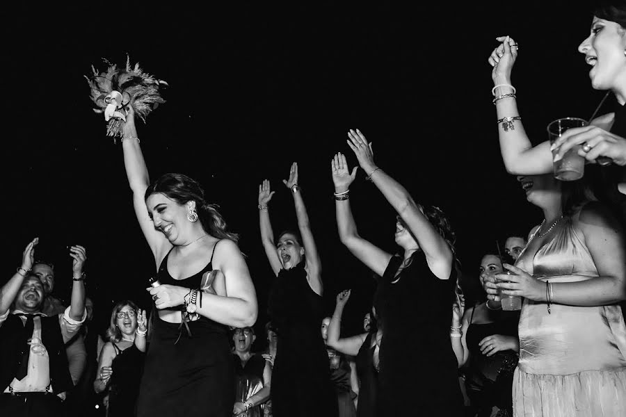
[[[133,344],[121,350],[113,343],[116,356],[111,368],[108,417],[134,417],[137,415],[136,402],[139,383],[143,373],[144,354]]]

